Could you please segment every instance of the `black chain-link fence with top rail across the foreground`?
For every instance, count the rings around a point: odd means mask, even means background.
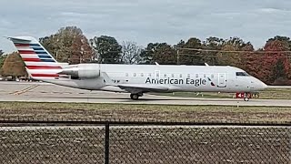
[[[287,124],[0,121],[0,163],[291,163]]]

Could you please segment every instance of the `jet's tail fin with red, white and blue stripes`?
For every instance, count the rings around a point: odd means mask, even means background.
[[[30,77],[37,80],[59,78],[58,74],[67,63],[58,63],[55,58],[34,37],[7,37],[17,48],[25,62],[25,68]]]

